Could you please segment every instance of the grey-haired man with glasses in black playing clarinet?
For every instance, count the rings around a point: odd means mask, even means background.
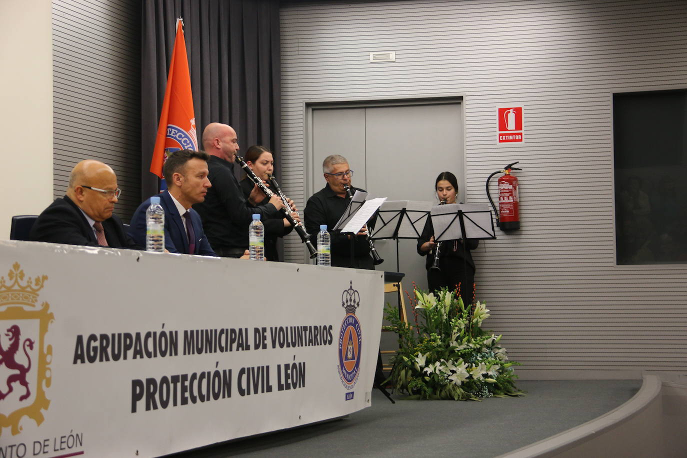
[[[353,244],[350,242],[351,234],[331,232],[348,207],[346,187],[350,187],[352,194],[355,194],[356,190],[363,192],[364,190],[352,187],[353,171],[348,166],[348,160],[339,154],[331,154],[324,159],[322,172],[327,184],[308,199],[303,211],[305,228],[311,236],[311,241],[313,244],[317,242],[319,225],[327,225],[331,236],[333,266],[374,270],[374,262],[370,257],[370,244],[365,238],[367,231],[364,226],[354,236]]]

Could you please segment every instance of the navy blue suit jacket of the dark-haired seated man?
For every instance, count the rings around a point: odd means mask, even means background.
[[[162,205],[162,209],[165,211],[165,248],[170,253],[189,254],[188,236],[183,228],[183,222],[181,221],[181,215],[179,215],[177,206],[172,201],[172,196],[170,196],[168,191],[159,194],[159,196],[160,205]],[[131,218],[131,226],[128,229],[128,235],[133,238],[136,246],[141,249],[146,248],[146,211],[148,207],[150,207],[150,198],[138,206]],[[196,249],[191,254],[216,256],[203,232],[201,217],[194,209],[191,209],[191,224],[196,234]]]

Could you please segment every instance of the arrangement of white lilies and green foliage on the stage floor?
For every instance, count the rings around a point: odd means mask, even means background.
[[[414,326],[401,321],[398,310],[387,304],[387,329],[398,334],[400,349],[392,358],[390,380],[409,399],[480,400],[491,396],[519,396],[514,365],[501,336],[482,329],[489,310],[477,301],[464,306],[447,289],[424,293],[415,289],[411,299]]]

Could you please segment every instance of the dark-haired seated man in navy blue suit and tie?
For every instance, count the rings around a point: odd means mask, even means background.
[[[160,194],[165,211],[165,248],[170,253],[214,256],[207,242],[198,213],[191,208],[205,200],[207,188],[207,159],[203,151],[180,150],[170,154],[162,170],[167,190]],[[139,205],[131,218],[128,235],[138,247],[146,247],[146,210],[150,198]]]

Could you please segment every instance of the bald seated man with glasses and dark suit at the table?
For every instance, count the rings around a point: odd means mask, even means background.
[[[74,166],[63,198],[56,198],[34,223],[36,242],[134,248],[120,218],[112,214],[121,194],[109,165],[87,159]]]

